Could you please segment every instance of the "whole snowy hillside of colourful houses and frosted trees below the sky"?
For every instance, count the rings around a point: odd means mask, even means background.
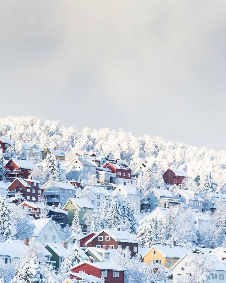
[[[48,136],[53,122],[35,135],[34,118],[27,130],[8,120],[0,126],[1,282],[226,282],[224,153],[202,149],[201,158],[180,145],[169,161],[149,141],[138,158],[132,144],[113,154],[92,134],[69,145],[72,129],[60,139],[57,127]]]

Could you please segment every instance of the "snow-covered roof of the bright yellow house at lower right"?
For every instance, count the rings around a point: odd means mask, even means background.
[[[142,255],[142,257],[145,257],[152,249],[157,249],[158,252],[160,252],[164,257],[171,257],[171,258],[181,258],[187,252],[185,248],[180,246],[174,246],[173,244],[172,245],[155,244],[152,245],[150,249],[148,249],[146,253]]]

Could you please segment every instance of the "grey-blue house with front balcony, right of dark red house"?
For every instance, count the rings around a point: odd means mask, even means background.
[[[75,196],[76,189],[68,181],[50,179],[42,186],[48,205],[65,205],[69,197]]]

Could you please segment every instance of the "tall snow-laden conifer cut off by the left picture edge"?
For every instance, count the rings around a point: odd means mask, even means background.
[[[11,209],[5,196],[0,195],[0,242],[5,242],[13,237],[10,226],[10,213]]]

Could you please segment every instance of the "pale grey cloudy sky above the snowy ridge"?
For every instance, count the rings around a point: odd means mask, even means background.
[[[226,149],[226,1],[12,0],[0,116]]]

